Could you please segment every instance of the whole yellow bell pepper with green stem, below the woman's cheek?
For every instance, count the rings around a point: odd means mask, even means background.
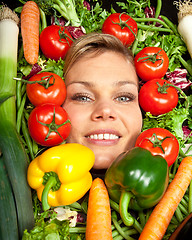
[[[69,205],[82,198],[92,184],[89,170],[94,161],[94,153],[77,143],[49,148],[32,160],[27,180],[37,191],[43,209]]]

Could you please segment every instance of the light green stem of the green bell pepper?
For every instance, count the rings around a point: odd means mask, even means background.
[[[119,213],[121,215],[121,219],[126,226],[132,226],[134,224],[134,218],[128,212],[129,202],[132,197],[133,194],[130,192],[121,192],[121,197],[119,201]]]

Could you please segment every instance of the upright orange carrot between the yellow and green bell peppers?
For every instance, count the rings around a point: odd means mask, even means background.
[[[111,208],[107,188],[96,178],[89,192],[86,240],[112,240]]]

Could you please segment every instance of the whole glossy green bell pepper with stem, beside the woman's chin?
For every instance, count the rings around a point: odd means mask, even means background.
[[[134,224],[128,207],[136,211],[153,207],[162,198],[168,181],[166,160],[140,147],[122,153],[105,174],[109,195],[119,203],[121,218],[127,226]]]

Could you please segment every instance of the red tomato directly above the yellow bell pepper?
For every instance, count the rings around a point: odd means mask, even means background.
[[[71,130],[67,112],[56,104],[43,104],[32,110],[28,119],[29,133],[42,146],[62,143]]]

